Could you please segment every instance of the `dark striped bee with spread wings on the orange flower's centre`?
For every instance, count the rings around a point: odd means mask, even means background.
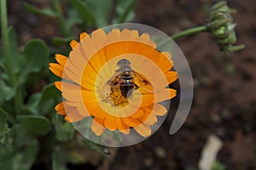
[[[117,66],[119,69],[104,86],[107,89],[107,100],[113,105],[128,105],[128,98],[138,88],[145,88],[148,93],[154,93],[152,84],[146,77],[131,68],[131,62],[128,59],[120,59]]]

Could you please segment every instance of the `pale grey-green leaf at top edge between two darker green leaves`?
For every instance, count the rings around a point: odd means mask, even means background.
[[[96,16],[96,26],[108,26],[109,16],[112,10],[112,0],[85,0],[90,8],[93,8],[92,13]]]

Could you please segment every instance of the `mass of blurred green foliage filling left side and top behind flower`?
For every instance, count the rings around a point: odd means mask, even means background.
[[[136,2],[120,0],[113,4],[112,0],[53,0],[52,5],[45,8],[28,3],[24,8],[32,14],[59,21],[61,37],[53,37],[51,44],[60,47],[74,39],[78,28],[86,31],[131,21]],[[84,161],[83,152],[70,150],[77,146],[97,150],[102,156],[107,156],[101,145],[76,133],[71,123],[55,113],[61,92],[54,83],[49,83],[55,79],[48,70],[52,60],[49,47],[40,39],[32,39],[18,47],[15,28],[7,25],[5,3],[6,0],[1,1],[1,30],[6,43],[0,48],[0,169],[28,170],[35,162],[42,161],[42,154],[46,154],[46,167],[67,170],[67,162]],[[66,10],[62,10],[62,5],[67,6]],[[56,53],[55,48],[50,49]],[[65,54],[65,50],[61,53]],[[113,135],[119,139],[118,134]]]

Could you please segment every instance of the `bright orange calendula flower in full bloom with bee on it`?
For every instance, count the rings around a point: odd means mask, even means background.
[[[168,52],[156,50],[147,33],[102,29],[82,33],[70,42],[69,57],[56,54],[49,70],[61,77],[55,87],[63,101],[55,106],[67,122],[92,117],[91,130],[101,136],[108,129],[143,137],[151,134],[157,116],[166,115],[160,102],[176,96],[168,85],[177,79]]]

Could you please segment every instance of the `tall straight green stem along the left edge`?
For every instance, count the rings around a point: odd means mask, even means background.
[[[5,58],[6,70],[9,75],[9,85],[12,88],[15,88],[15,72],[10,58],[6,0],[1,0],[1,31],[3,37],[3,56]]]

